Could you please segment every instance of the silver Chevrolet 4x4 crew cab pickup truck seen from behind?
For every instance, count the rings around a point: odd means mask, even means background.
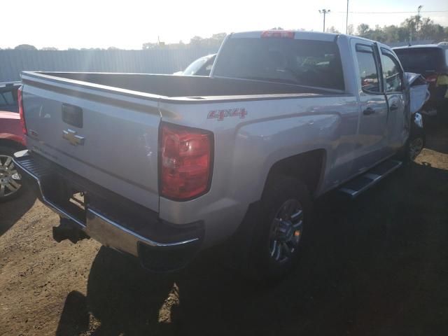
[[[155,271],[232,237],[279,279],[311,202],[356,197],[400,167],[409,90],[391,48],[303,31],[230,34],[211,76],[22,73],[15,165],[62,218]]]

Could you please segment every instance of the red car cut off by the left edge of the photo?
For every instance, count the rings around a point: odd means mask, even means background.
[[[0,84],[0,202],[12,200],[23,191],[22,176],[13,163],[13,153],[25,149],[18,113],[19,87],[16,83]]]

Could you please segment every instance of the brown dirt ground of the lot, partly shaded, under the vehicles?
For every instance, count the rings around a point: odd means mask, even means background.
[[[301,267],[258,288],[220,251],[148,274],[88,240],[57,244],[30,193],[0,205],[1,335],[448,335],[448,127],[351,202],[315,207]]]

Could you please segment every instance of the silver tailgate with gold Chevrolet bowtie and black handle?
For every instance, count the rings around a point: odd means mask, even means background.
[[[27,76],[22,79],[28,148],[158,211],[158,102]]]

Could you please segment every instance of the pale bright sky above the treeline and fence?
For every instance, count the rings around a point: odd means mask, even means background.
[[[319,9],[329,9],[326,27],[345,32],[346,0],[172,1],[172,0],[20,0],[3,1],[0,48],[22,43],[37,48],[141,49],[145,42],[188,43],[193,36],[272,27],[321,31]],[[349,25],[399,25],[417,7],[421,15],[448,26],[448,1],[350,0]],[[429,13],[441,11],[439,13]],[[369,13],[360,13],[369,12]],[[374,12],[374,13],[372,13]],[[391,13],[412,12],[412,13]]]

